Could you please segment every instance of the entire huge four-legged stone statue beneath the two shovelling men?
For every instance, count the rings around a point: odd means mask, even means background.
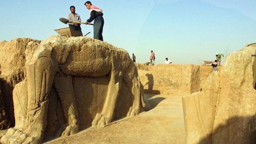
[[[44,134],[72,135],[143,110],[143,87],[125,50],[87,37],[28,45],[25,78],[13,91],[15,127],[2,143],[40,143]]]

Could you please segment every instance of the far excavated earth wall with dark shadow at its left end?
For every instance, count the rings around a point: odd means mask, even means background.
[[[137,64],[145,92],[168,95],[187,95],[200,91],[212,66]]]

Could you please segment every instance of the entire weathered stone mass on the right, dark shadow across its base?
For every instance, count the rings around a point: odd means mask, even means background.
[[[187,143],[256,143],[255,50],[232,53],[201,92],[183,98]]]

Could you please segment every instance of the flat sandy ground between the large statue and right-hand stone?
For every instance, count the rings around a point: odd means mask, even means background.
[[[147,96],[149,111],[47,143],[185,143],[181,97]]]

